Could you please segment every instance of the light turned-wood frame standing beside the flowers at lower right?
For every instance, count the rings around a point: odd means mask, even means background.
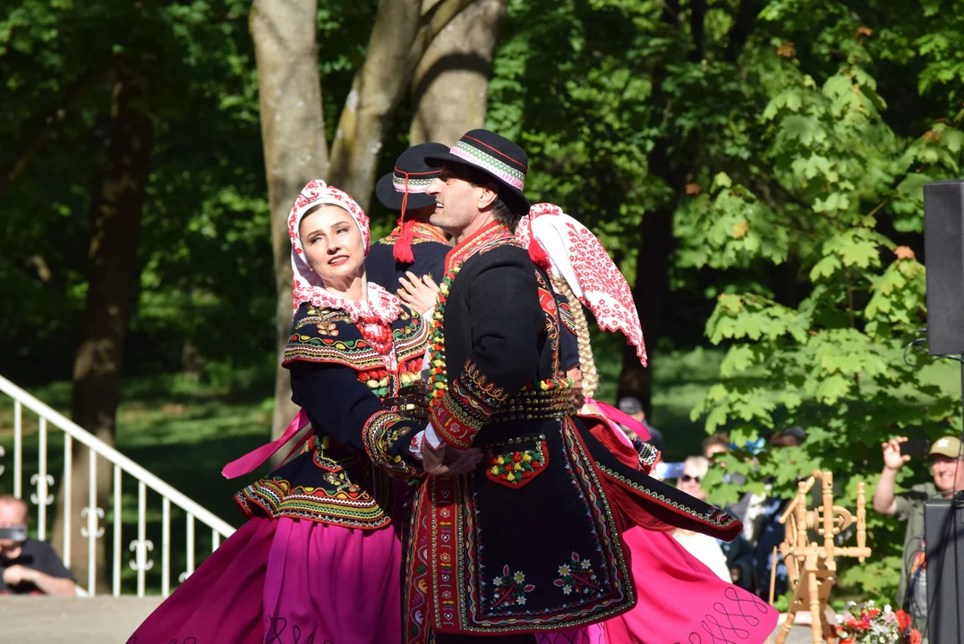
[[[814,509],[807,509],[807,495],[817,478],[823,482],[823,502]],[[783,554],[784,564],[787,566],[793,596],[787,610],[787,621],[777,635],[776,644],[784,644],[786,641],[796,613],[808,609],[813,618],[811,629],[814,633],[814,644],[820,644],[826,638],[834,637],[833,629],[823,615],[830,599],[830,590],[837,580],[837,557],[855,556],[863,562],[870,556],[870,548],[867,547],[867,499],[864,483],[857,484],[856,547],[842,548],[834,544],[834,537],[853,525],[854,516],[845,507],[834,505],[834,475],[830,472],[814,471],[813,476],[800,481],[797,484],[796,497],[779,521],[786,526],[780,553]],[[822,544],[808,540],[807,531],[810,529],[823,535]],[[774,556],[774,571],[776,566]],[[770,604],[773,604],[772,579]]]

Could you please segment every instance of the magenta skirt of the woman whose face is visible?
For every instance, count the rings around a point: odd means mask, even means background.
[[[398,644],[401,543],[255,517],[147,617],[128,644]]]

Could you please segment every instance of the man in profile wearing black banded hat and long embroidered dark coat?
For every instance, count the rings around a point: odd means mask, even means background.
[[[575,419],[560,364],[549,276],[515,240],[528,211],[527,157],[472,130],[446,154],[427,193],[430,221],[454,237],[429,352],[430,425],[412,439],[436,474],[480,448],[469,476],[417,489],[406,549],[409,642],[535,641],[626,612],[636,603],[621,531],[684,527],[734,538],[726,512],[642,474]],[[409,440],[378,434],[380,449]]]

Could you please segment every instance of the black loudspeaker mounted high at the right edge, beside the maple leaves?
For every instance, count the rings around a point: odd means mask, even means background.
[[[964,181],[924,186],[927,350],[964,354]]]

